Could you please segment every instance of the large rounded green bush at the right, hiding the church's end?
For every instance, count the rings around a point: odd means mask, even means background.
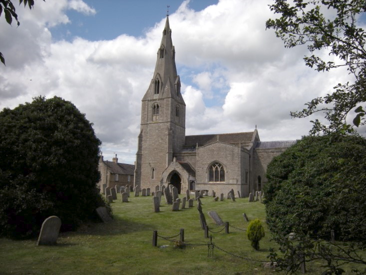
[[[268,165],[266,212],[277,234],[365,243],[366,140],[356,135],[307,136]]]

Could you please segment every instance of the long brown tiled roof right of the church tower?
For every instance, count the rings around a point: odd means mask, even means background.
[[[235,132],[235,133],[219,133],[219,134],[199,134],[186,135],[185,146],[203,146],[215,141],[222,141],[229,144],[250,143],[253,138],[253,132]]]

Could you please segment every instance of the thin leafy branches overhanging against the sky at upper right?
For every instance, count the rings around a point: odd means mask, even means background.
[[[311,55],[304,58],[306,65],[318,71],[329,71],[346,67],[354,76],[353,82],[335,83],[334,91],[324,97],[317,97],[306,103],[301,111],[291,112],[293,117],[306,117],[324,112],[329,125],[318,119],[313,122],[311,134],[334,131],[353,132],[346,118],[356,108],[353,123],[365,124],[366,101],[366,33],[360,27],[364,0],[276,0],[270,5],[280,18],[268,19],[267,28],[275,29],[285,47],[307,45]],[[328,50],[329,60],[319,56],[320,50]]]

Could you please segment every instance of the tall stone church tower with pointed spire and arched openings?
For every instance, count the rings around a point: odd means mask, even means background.
[[[186,105],[180,93],[169,16],[157,52],[153,78],[142,98],[134,186],[153,188],[185,142]]]

